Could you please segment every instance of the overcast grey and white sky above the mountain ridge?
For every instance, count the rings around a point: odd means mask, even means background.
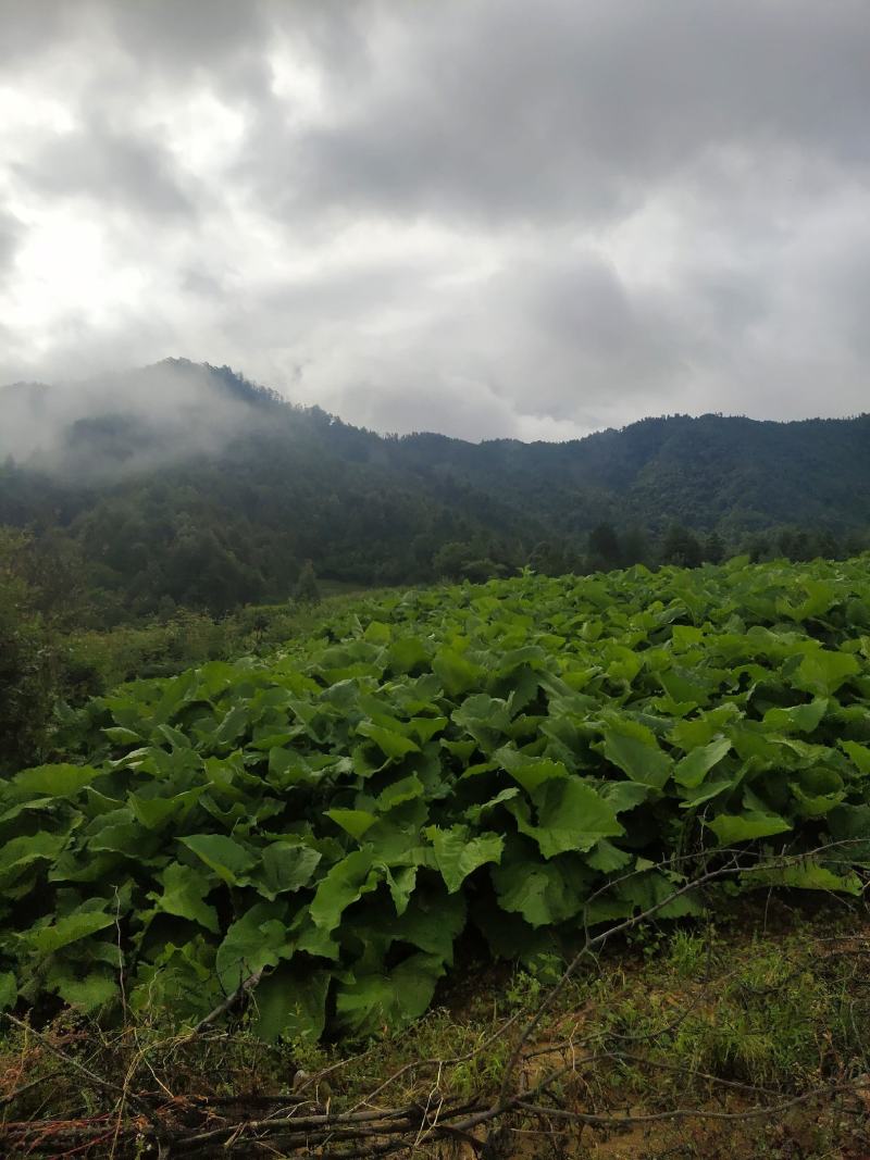
[[[867,0],[0,0],[0,382],[177,355],[466,438],[868,411],[869,171]]]

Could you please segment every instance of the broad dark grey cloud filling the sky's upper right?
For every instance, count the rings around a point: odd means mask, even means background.
[[[610,219],[702,161],[727,182],[733,152],[868,161],[858,2],[418,6],[386,43],[363,93],[333,78],[331,116],[295,143],[320,204]]]

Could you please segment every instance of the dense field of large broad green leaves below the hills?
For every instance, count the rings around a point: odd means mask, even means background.
[[[735,848],[732,889],[860,893],[869,567],[394,594],[123,686],[0,788],[0,1006],[181,1024],[244,986],[264,1038],[361,1037],[427,1009],[461,936],[546,962],[694,913],[689,867]]]

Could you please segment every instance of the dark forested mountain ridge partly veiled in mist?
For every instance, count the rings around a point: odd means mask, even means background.
[[[870,415],[686,415],[560,443],[380,436],[171,360],[0,391],[0,524],[107,619],[281,600],[305,560],[360,583],[854,552]],[[688,535],[687,531],[691,532]]]

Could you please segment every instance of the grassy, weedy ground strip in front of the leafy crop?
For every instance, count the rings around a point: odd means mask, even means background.
[[[521,1087],[530,1092],[566,1065],[538,1092],[538,1102],[546,1095],[559,1108],[617,1121],[626,1110],[637,1117],[706,1109],[740,1123],[654,1122],[644,1125],[641,1146],[631,1121],[624,1128],[557,1122],[556,1134],[548,1134],[535,1117],[514,1111],[509,1131],[498,1137],[502,1151],[492,1154],[664,1160],[733,1157],[742,1148],[738,1155],[783,1160],[867,1155],[867,915],[855,908],[831,916],[820,907],[813,914],[805,906],[786,913],[777,904],[770,919],[769,908],[747,913],[744,905],[718,914],[716,925],[669,930],[654,955],[637,942],[614,944],[565,986],[522,1060]],[[87,1154],[144,1157],[157,1154],[148,1151],[147,1132],[137,1140],[115,1126],[154,1097],[175,1131],[216,1118],[244,1123],[284,1099],[305,1097],[335,1111],[423,1108],[433,1093],[459,1102],[492,1099],[516,1029],[549,989],[552,965],[536,974],[469,963],[463,981],[444,987],[413,1027],[351,1047],[266,1044],[248,1030],[252,1010],[229,1031],[209,1029],[194,1038],[135,1020],[109,1032],[70,1013],[43,1032],[7,1025],[0,1049],[5,1130],[41,1125],[35,1151],[44,1153],[52,1125],[60,1131],[57,1125],[92,1119],[104,1123],[106,1132]],[[849,1087],[855,1082],[857,1088]],[[843,1090],[782,1114],[753,1112],[831,1086]],[[66,1139],[51,1154],[67,1154]],[[528,1151],[529,1140],[537,1151]],[[433,1140],[420,1154],[447,1155],[445,1148]],[[239,1154],[268,1153],[252,1143]]]

